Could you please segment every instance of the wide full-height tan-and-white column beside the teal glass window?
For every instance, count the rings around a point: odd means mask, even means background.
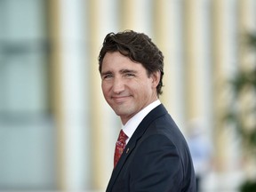
[[[53,113],[57,125],[58,188],[82,190],[91,182],[82,0],[49,1]],[[71,29],[70,29],[71,28]],[[86,54],[86,53],[85,53]]]

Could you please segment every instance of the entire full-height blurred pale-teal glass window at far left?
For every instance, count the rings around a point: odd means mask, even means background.
[[[0,191],[56,186],[47,2],[0,0]]]

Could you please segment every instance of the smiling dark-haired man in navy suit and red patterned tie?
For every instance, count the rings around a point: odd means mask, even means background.
[[[115,154],[107,192],[196,191],[187,142],[158,99],[163,53],[143,33],[109,33],[99,64],[104,98],[120,116],[125,138],[116,142],[121,157]]]

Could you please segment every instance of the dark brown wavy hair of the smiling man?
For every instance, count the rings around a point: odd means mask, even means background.
[[[103,42],[99,55],[99,70],[101,72],[102,60],[107,52],[120,52],[134,62],[140,62],[148,72],[160,71],[160,81],[156,87],[157,95],[162,94],[164,76],[164,55],[156,47],[151,39],[143,34],[132,30],[119,33],[109,33]]]

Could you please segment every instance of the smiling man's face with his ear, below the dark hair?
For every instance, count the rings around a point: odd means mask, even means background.
[[[106,53],[100,75],[104,97],[123,124],[157,99],[160,73],[148,76],[146,68],[120,52]]]

